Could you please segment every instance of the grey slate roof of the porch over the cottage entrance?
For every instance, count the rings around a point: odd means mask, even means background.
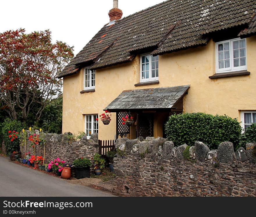
[[[172,108],[189,87],[190,85],[124,90],[104,110]]]

